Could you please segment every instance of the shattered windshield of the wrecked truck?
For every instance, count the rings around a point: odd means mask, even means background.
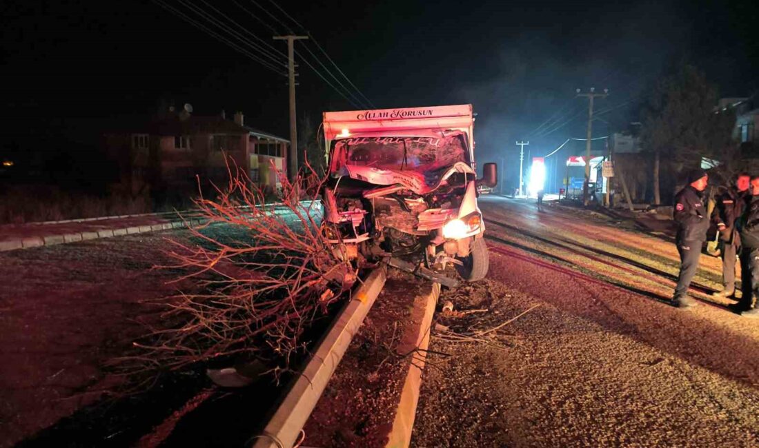
[[[440,137],[353,137],[335,143],[333,169],[361,165],[383,170],[437,171],[468,163],[463,133]]]

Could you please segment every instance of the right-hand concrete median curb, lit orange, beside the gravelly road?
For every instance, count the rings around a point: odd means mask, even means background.
[[[387,448],[402,448],[411,443],[411,431],[414,428],[414,418],[417,413],[417,403],[419,403],[419,390],[422,384],[422,369],[427,360],[427,348],[430,346],[430,328],[439,296],[440,284],[431,284],[428,293],[414,299],[414,311],[411,314],[414,324],[406,331],[398,346],[398,352],[405,354],[414,349],[416,351],[408,364],[398,407],[395,409],[395,419],[388,434]]]

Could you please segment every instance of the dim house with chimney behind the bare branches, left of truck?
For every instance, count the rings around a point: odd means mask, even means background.
[[[287,139],[246,126],[241,112],[228,120],[223,111],[214,116],[191,111],[186,105],[179,113],[168,111],[106,133],[106,150],[131,193],[170,197],[195,193],[199,183],[203,189],[223,186],[227,164],[233,175],[239,170],[267,190],[281,186],[275,170],[287,167]]]

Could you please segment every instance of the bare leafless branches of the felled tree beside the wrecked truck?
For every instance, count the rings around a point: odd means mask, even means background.
[[[353,266],[324,237],[317,206],[323,176],[308,164],[293,182],[276,171],[275,206],[244,171],[228,165],[228,174],[213,198],[195,200],[206,224],[189,227],[189,243],[169,240],[174,263],[161,267],[178,270],[176,281],[191,280],[200,292],[165,301],[165,318],[175,324],[135,342],[140,353],[121,362],[175,369],[262,357],[286,370],[307,344],[304,331],[354,284]]]

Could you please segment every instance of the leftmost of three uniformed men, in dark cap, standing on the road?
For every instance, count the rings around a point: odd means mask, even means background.
[[[696,301],[688,297],[688,287],[698,269],[701,246],[707,239],[710,221],[703,199],[704,189],[709,182],[708,174],[703,170],[691,171],[687,182],[688,185],[675,196],[675,242],[680,254],[680,274],[671,302],[673,306],[684,309],[696,305]]]

